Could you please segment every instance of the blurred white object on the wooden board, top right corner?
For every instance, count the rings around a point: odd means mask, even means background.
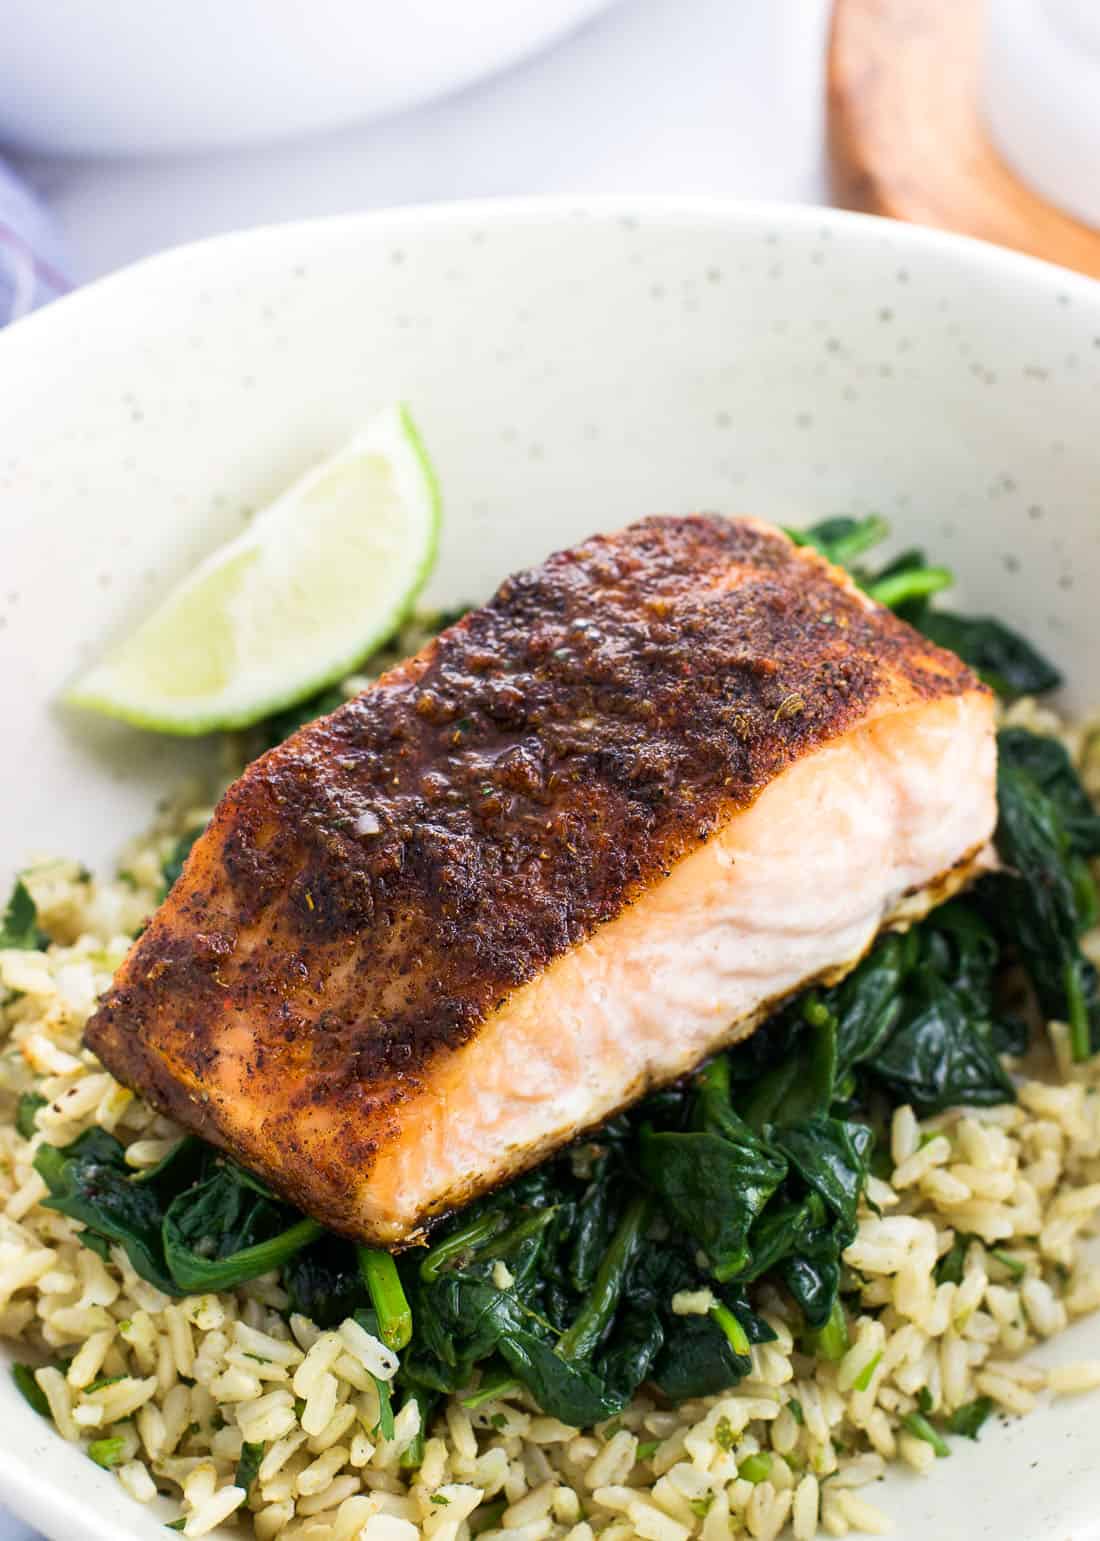
[[[1100,6],[997,0],[984,60],[989,133],[1017,176],[1100,228]]]

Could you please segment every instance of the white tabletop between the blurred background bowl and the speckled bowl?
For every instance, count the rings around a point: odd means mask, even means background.
[[[621,0],[538,59],[387,122],[223,156],[17,160],[80,280],[225,230],[434,199],[823,202],[827,3]]]

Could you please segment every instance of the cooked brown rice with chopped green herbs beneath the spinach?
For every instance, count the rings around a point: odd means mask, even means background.
[[[1063,729],[1032,703],[1011,720],[1060,732],[1100,797],[1095,726]],[[59,1433],[119,1439],[122,1486],[139,1502],[165,1495],[183,1535],[245,1519],[259,1541],[881,1535],[890,1523],[869,1486],[889,1462],[918,1473],[935,1464],[907,1415],[951,1413],[977,1396],[1023,1415],[1100,1387],[1100,1361],[1045,1371],[1023,1358],[1100,1305],[1100,1276],[1083,1261],[1100,1210],[1100,1068],[1072,1065],[1065,1025],[1049,1023],[1018,1103],[924,1122],[895,1111],[892,1177],[872,1179],[874,1210],[846,1256],[863,1310],[838,1364],[800,1351],[796,1313],[764,1287],[758,1307],[776,1339],[753,1348],[750,1378],[727,1395],[678,1408],[638,1396],[595,1430],[524,1398],[475,1412],[453,1398],[419,1470],[402,1469],[416,1407],[399,1413],[391,1439],[376,1432],[373,1376],[391,1376],[396,1362],[354,1322],[320,1331],[288,1314],[274,1274],[171,1301],[119,1248],[103,1262],[40,1205],[42,1140],[66,1143],[99,1123],[142,1170],[179,1134],[82,1049],[80,1032],[157,900],[166,852],[203,817],[168,811],[116,881],[37,865],[26,883],[54,942],[0,952],[0,1335],[39,1362],[71,1355],[35,1376]],[[1100,931],[1086,951],[1100,963]],[[12,1114],[31,1088],[48,1105],[28,1142]],[[937,1284],[957,1234],[974,1237],[961,1279]],[[234,1481],[243,1441],[265,1447],[250,1495]]]

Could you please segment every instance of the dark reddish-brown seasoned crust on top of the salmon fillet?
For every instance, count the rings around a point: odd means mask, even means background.
[[[210,1086],[246,1020],[245,1082],[277,1077],[285,1108],[245,1159],[313,1213],[327,1185],[339,1216],[402,1097],[511,991],[801,755],[894,703],[975,689],[756,521],[596,536],[250,766],[86,1040],[239,1148]],[[340,1123],[327,1173],[299,1143],[311,1106]]]

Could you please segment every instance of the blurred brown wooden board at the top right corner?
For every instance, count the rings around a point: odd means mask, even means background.
[[[835,0],[833,200],[1100,277],[1100,231],[1032,193],[986,137],[978,112],[984,9],[984,0]]]

